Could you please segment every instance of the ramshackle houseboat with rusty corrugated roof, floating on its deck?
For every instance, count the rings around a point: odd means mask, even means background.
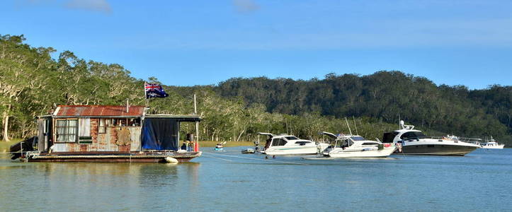
[[[20,143],[13,159],[27,162],[186,162],[201,155],[178,150],[181,122],[197,114],[146,114],[144,106],[59,105],[37,117],[37,146]],[[190,139],[189,139],[190,140]],[[193,140],[193,139],[191,139]]]

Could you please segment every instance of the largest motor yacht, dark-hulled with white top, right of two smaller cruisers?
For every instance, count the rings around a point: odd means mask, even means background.
[[[400,128],[385,133],[382,139],[382,143],[398,144],[398,148],[402,150],[400,154],[464,156],[480,148],[475,143],[459,141],[459,139],[426,136],[414,129],[413,125],[405,125],[404,121],[400,121]]]

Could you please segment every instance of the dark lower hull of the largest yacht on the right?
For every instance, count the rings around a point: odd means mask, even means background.
[[[476,150],[477,146],[457,146],[442,144],[413,144],[402,147],[402,152],[397,154],[404,155],[456,155],[464,156]]]

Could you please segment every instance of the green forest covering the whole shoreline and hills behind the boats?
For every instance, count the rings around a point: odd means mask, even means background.
[[[34,134],[34,117],[55,105],[144,105],[142,79],[119,64],[86,61],[51,47],[30,47],[22,36],[0,37],[2,135]],[[159,83],[157,78],[148,82]],[[399,71],[368,76],[329,74],[325,79],[232,78],[218,86],[164,86],[169,98],[149,102],[153,113],[190,114],[193,94],[203,117],[200,139],[254,141],[258,131],[319,139],[319,131],[352,131],[371,139],[397,129],[398,116],[437,135],[489,136],[511,140],[512,88],[436,86]],[[356,123],[356,124],[354,124]],[[183,124],[185,132],[193,124]]]

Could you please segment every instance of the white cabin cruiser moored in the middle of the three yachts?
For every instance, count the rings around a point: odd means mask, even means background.
[[[322,134],[331,137],[334,141],[323,155],[331,158],[385,158],[391,155],[397,147],[393,143],[370,141],[357,135],[334,135],[329,132]]]

